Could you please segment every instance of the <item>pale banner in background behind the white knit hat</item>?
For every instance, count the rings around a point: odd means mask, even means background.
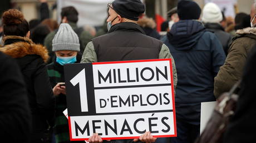
[[[209,2],[213,2],[217,4],[221,11],[225,11],[226,17],[233,17],[235,18],[235,9],[234,4],[237,3],[237,0],[205,0],[205,4]]]

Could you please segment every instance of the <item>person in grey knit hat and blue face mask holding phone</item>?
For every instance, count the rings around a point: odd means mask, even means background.
[[[47,65],[47,72],[53,88],[53,95],[56,97],[55,139],[56,143],[70,142],[68,120],[63,114],[63,111],[67,109],[63,65],[80,63],[82,55],[79,53],[78,36],[69,24],[62,23],[60,25],[52,40],[52,51],[56,56],[53,62]]]

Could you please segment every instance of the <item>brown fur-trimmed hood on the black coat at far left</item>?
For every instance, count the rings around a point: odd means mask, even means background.
[[[12,58],[22,58],[26,55],[40,55],[44,62],[47,62],[49,55],[43,45],[35,44],[31,39],[19,36],[6,36],[3,38],[4,43],[9,43],[0,48],[0,51],[11,56]],[[12,42],[10,42],[12,41]]]

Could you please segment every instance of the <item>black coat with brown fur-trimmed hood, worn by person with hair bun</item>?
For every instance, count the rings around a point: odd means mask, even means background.
[[[45,62],[48,52],[42,45],[18,36],[4,37],[0,51],[15,58],[27,86],[32,112],[32,132],[42,132],[54,125],[55,100],[47,75]]]

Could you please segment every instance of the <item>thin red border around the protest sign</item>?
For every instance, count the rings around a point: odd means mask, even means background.
[[[169,61],[169,63],[170,63],[171,92],[172,92],[172,99],[173,99],[173,114],[174,114],[174,135],[158,135],[158,136],[153,136],[153,137],[176,137],[177,136],[177,130],[176,130],[175,98],[174,98],[174,85],[172,84],[173,83],[173,64],[171,63],[171,59],[146,59],[146,60],[125,60],[125,61],[114,61],[114,62],[96,62],[96,63],[92,63],[92,65],[120,64],[120,63],[140,63],[140,62],[159,62],[159,61]],[[68,126],[69,126],[69,129],[70,129],[70,141],[89,140],[89,138],[72,139],[70,116],[68,116]],[[138,139],[139,137],[140,136],[102,137],[102,140]]]

